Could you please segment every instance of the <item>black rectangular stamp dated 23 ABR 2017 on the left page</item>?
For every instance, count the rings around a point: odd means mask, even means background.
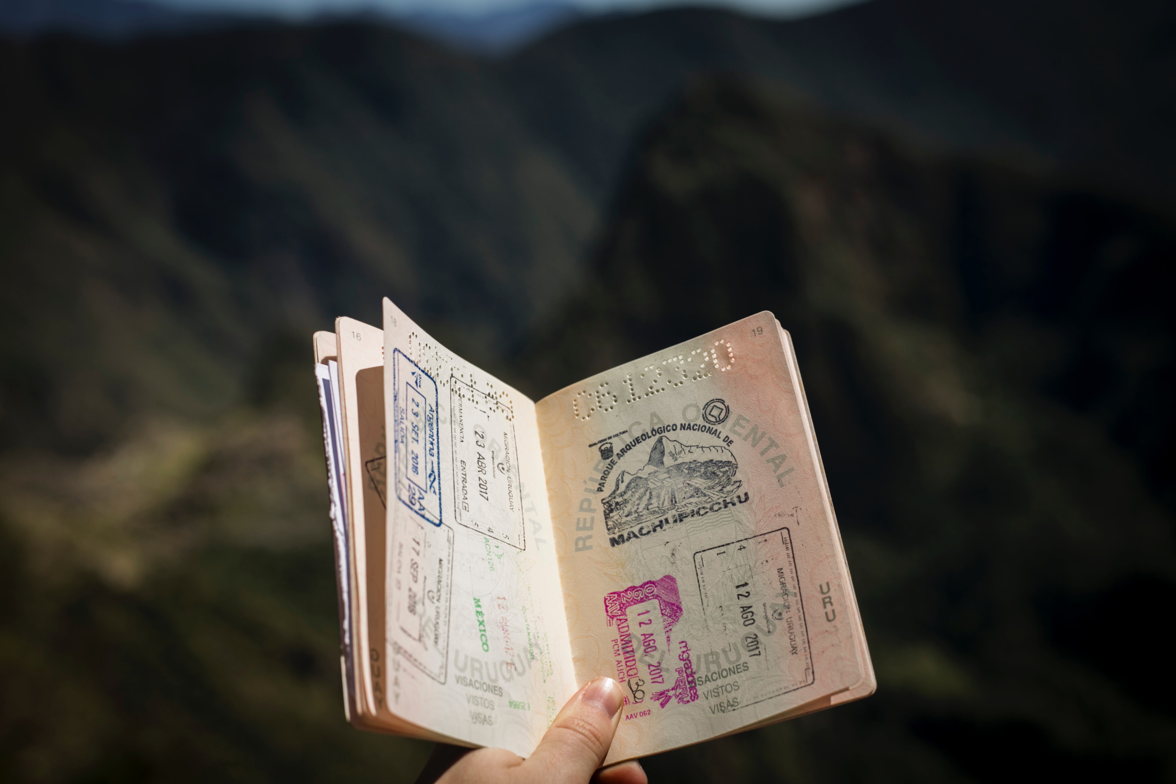
[[[449,378],[453,431],[453,518],[524,550],[527,532],[514,424],[499,401],[456,376]]]

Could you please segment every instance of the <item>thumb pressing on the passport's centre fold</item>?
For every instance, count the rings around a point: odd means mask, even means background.
[[[596,678],[563,706],[523,763],[533,780],[587,782],[604,762],[624,697],[613,678]]]

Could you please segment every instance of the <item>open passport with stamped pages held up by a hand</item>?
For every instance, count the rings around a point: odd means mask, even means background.
[[[791,339],[760,313],[532,401],[389,300],[314,335],[358,728],[606,764],[874,692]]]

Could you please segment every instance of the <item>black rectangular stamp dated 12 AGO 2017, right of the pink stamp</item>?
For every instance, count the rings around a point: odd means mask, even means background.
[[[722,661],[699,666],[699,692],[717,712],[814,683],[813,655],[787,528],[694,554],[707,628]],[[717,657],[715,657],[717,659]]]

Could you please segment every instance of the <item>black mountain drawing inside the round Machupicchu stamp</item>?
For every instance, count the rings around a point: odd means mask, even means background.
[[[649,460],[636,471],[621,471],[602,502],[610,534],[648,520],[713,503],[734,492],[739,462],[726,447],[684,444],[659,436]]]

